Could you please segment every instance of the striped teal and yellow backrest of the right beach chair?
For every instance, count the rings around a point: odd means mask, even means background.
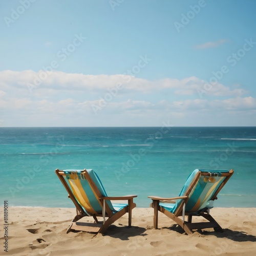
[[[232,176],[233,170],[206,170],[196,169],[191,173],[179,196],[187,196],[185,211],[198,212],[205,208],[211,208],[210,200],[214,200],[221,188]],[[182,201],[176,202],[174,212],[179,214],[182,210]]]

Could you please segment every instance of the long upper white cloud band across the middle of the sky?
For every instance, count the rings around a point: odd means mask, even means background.
[[[44,74],[44,75],[42,75]],[[43,79],[44,78],[44,79]],[[198,90],[205,90],[206,82],[195,76],[181,80],[165,78],[150,81],[128,75],[84,75],[68,74],[54,71],[47,75],[46,72],[2,71],[0,72],[0,88],[3,91],[12,91],[12,94],[24,97],[51,97],[60,93],[108,93],[110,90],[122,91],[122,94],[139,92],[150,94],[162,90],[173,90],[175,95],[197,95]],[[169,91],[170,92],[170,91]],[[211,86],[206,90],[207,95],[213,96],[241,96],[246,91],[235,88],[230,89],[221,83]],[[205,95],[206,95],[205,94]]]

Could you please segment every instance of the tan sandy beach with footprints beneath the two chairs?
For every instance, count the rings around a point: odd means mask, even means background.
[[[105,234],[69,232],[74,208],[9,207],[8,226],[1,207],[1,255],[253,255],[256,251],[256,208],[214,208],[211,215],[224,229],[186,235],[159,214],[153,229],[153,209],[135,208],[132,227],[127,214]],[[88,220],[91,221],[92,218]],[[87,221],[86,218],[82,219]],[[5,235],[8,235],[5,244]],[[4,251],[5,245],[8,252]]]

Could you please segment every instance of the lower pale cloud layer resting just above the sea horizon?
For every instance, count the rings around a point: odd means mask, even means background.
[[[152,103],[146,100],[126,100],[108,102],[98,111],[92,109],[96,101],[75,101],[63,99],[52,102],[49,100],[33,101],[14,99],[5,102],[6,126],[15,125],[14,120],[30,126],[143,126],[160,125],[170,120],[174,125],[225,125],[231,116],[236,116],[233,125],[241,125],[239,119],[249,116],[250,122],[256,112],[256,99],[252,97],[211,100],[161,100]],[[8,120],[8,116],[11,119]],[[22,119],[20,119],[22,117]],[[7,121],[8,120],[8,121]],[[27,120],[24,122],[24,120]],[[186,121],[185,121],[186,120]],[[220,121],[222,121],[220,123]],[[246,123],[243,123],[246,125]],[[25,125],[26,126],[26,125]]]

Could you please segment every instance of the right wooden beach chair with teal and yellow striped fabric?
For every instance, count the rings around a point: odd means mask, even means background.
[[[187,234],[193,233],[193,229],[214,228],[215,231],[223,231],[221,226],[209,214],[213,207],[213,201],[228,179],[233,170],[204,170],[196,169],[191,173],[178,197],[161,198],[149,196],[153,200],[154,228],[158,228],[158,211],[161,211],[170,219],[180,225]],[[187,221],[185,221],[187,216]],[[207,221],[192,223],[193,216],[201,216]]]

